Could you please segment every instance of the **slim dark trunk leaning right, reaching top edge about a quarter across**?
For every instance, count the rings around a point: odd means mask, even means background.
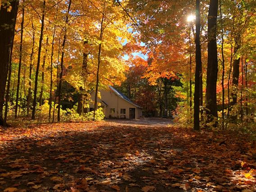
[[[60,73],[59,73],[59,89],[58,89],[58,122],[60,121],[60,101],[61,101],[61,85],[62,85],[62,74],[63,74],[63,62],[64,62],[64,48],[67,38],[67,24],[69,22],[69,10],[71,6],[71,0],[69,0],[69,7],[66,15],[66,23],[64,28],[64,38],[62,43],[62,53],[61,53],[61,60],[60,60]]]

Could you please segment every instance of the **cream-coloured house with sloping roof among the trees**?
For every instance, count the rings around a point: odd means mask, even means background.
[[[138,119],[142,116],[142,108],[134,104],[123,93],[116,90],[114,87],[109,86],[107,89],[101,89],[101,107],[105,114],[105,118],[118,118],[118,119]],[[91,91],[90,111],[94,110],[95,91]],[[87,110],[88,111],[88,110]]]

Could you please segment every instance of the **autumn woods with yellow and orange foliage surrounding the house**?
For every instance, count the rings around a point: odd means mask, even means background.
[[[196,130],[254,121],[252,1],[11,3],[1,5],[1,22],[15,26],[13,48],[11,27],[8,49],[1,46],[9,55],[1,62],[1,124],[4,113],[59,122],[68,109],[84,118],[90,91],[109,85],[144,116],[193,115],[185,122]]]

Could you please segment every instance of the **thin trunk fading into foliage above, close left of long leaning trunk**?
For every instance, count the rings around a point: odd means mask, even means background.
[[[33,61],[33,55],[34,55],[34,46],[35,46],[35,29],[32,21],[32,29],[33,29],[33,37],[32,37],[32,50],[30,54],[30,64],[29,64],[29,82],[28,82],[28,94],[27,94],[27,115],[29,115],[29,109],[30,109],[30,101],[31,101],[31,75],[32,75],[32,61]]]

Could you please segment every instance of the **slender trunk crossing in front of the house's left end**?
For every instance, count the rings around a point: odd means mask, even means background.
[[[105,3],[104,3],[104,9],[105,9]],[[104,18],[105,18],[105,14],[103,13],[102,14],[102,19],[101,19],[101,34],[100,34],[100,40],[101,41],[102,41],[102,36],[103,36],[103,21],[104,21]],[[95,112],[98,108],[97,99],[98,99],[100,64],[101,64],[101,43],[99,45],[99,52],[98,52],[98,66],[97,66],[97,75],[96,75],[96,88],[95,88],[95,98],[94,98],[93,120],[95,120]]]

